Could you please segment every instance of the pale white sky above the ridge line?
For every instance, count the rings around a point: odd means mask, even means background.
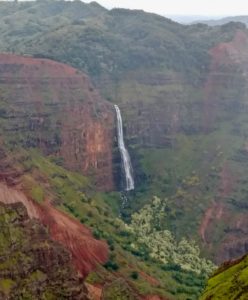
[[[160,15],[248,15],[247,0],[96,0],[106,8],[143,9]],[[83,2],[91,2],[83,0]]]

